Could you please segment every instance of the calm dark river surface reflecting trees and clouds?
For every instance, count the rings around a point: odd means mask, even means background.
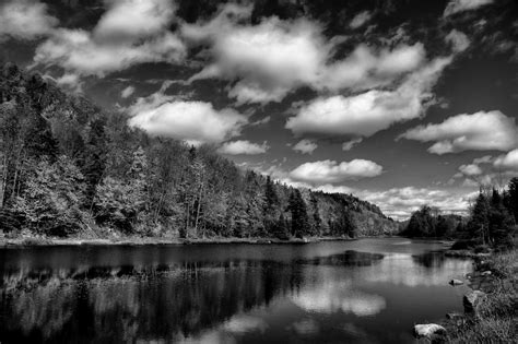
[[[0,249],[0,343],[412,343],[461,310],[440,244]]]

